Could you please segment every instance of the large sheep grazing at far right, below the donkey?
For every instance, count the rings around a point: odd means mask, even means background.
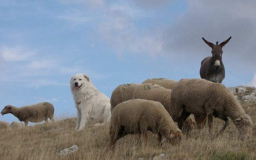
[[[251,117],[245,113],[231,91],[221,83],[204,79],[182,79],[173,87],[171,103],[171,116],[178,122],[179,128],[190,114],[207,116],[211,135],[214,116],[225,121],[219,132],[221,134],[229,125],[229,117],[235,124],[240,139],[245,140],[251,136]]]

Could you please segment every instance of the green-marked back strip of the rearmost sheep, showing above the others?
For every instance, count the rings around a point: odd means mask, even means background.
[[[147,79],[142,82],[144,83],[155,83],[158,84],[159,86],[162,86],[164,88],[172,89],[173,86],[177,83],[176,80],[170,80],[167,78],[152,78],[152,79]]]

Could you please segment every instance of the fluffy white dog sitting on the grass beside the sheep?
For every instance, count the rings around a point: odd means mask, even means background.
[[[98,91],[85,74],[76,74],[70,80],[70,89],[77,108],[77,125],[75,130],[82,130],[91,120],[98,125],[110,121],[110,99]]]

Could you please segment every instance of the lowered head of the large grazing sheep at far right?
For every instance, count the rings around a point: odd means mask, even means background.
[[[238,117],[234,121],[235,127],[239,132],[239,137],[241,140],[249,139],[252,134],[252,119],[248,115],[243,117]]]

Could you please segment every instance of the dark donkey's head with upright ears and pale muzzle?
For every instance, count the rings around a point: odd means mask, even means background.
[[[218,44],[219,42],[216,42],[216,45],[213,43],[207,41],[206,39],[202,38],[206,44],[208,44],[212,48],[212,59],[214,63],[214,68],[216,70],[219,70],[221,68],[221,57],[222,57],[222,47],[224,47],[225,44],[229,42],[231,37],[227,39],[226,41],[223,41],[221,44]]]

